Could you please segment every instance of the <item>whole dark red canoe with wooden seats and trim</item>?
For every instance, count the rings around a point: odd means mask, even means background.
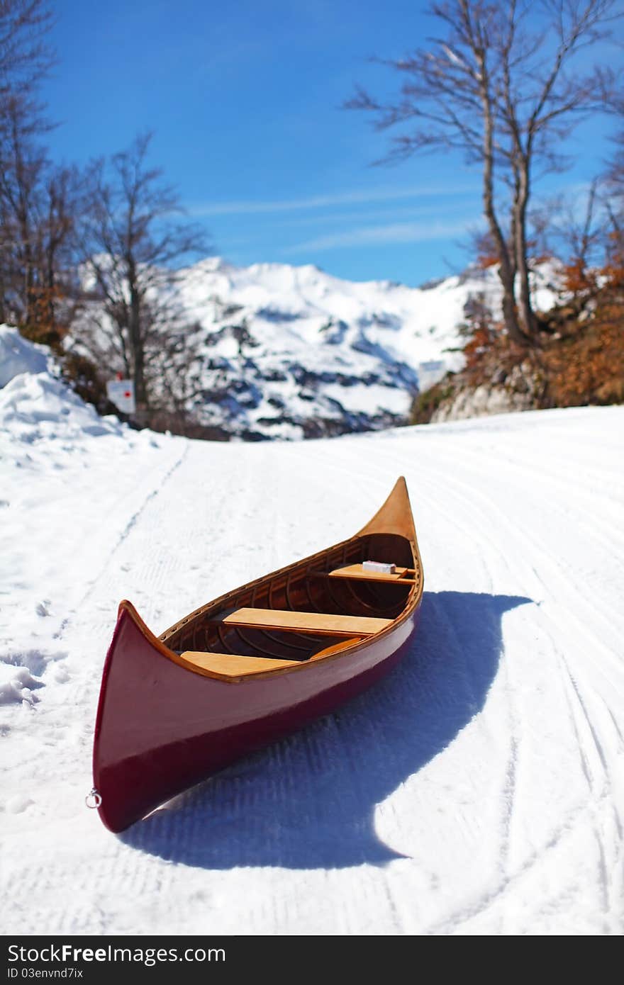
[[[364,561],[394,564],[371,571]],[[127,601],[106,654],[94,791],[121,831],[370,687],[405,652],[423,573],[405,480],[349,540],[155,636]]]

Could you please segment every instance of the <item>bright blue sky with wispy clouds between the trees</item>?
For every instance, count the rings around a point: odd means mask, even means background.
[[[419,0],[57,0],[58,55],[43,96],[57,160],[85,163],[155,131],[152,160],[215,251],[234,263],[314,263],[339,277],[418,285],[467,260],[479,172],[440,154],[372,166],[384,149],[341,103],[376,95],[397,57],[432,33]],[[575,138],[583,187],[608,153],[605,127]]]

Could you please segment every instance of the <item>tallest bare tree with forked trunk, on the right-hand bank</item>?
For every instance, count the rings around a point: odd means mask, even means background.
[[[505,325],[520,345],[536,336],[526,233],[534,172],[565,166],[561,142],[612,91],[607,71],[584,72],[575,56],[609,36],[614,7],[614,0],[434,3],[445,36],[384,63],[405,78],[400,97],[383,103],[359,89],[346,103],[373,112],[381,130],[411,125],[386,161],[450,148],[481,164]]]

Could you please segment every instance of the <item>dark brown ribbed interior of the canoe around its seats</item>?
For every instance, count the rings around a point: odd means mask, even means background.
[[[404,583],[374,578],[332,577],[329,572],[364,560],[394,563],[409,570]],[[335,644],[349,645],[344,634],[318,635],[299,630],[224,624],[238,609],[274,609],[299,613],[394,620],[418,592],[421,571],[413,544],[398,534],[357,536],[222,596],[174,624],[160,639],[177,653],[238,654],[277,660],[309,660]],[[357,642],[354,638],[352,642]]]

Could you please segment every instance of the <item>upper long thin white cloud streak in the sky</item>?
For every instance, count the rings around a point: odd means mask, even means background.
[[[398,199],[447,197],[467,195],[475,191],[475,185],[454,185],[420,188],[373,188],[359,191],[338,192],[335,195],[314,195],[311,198],[287,199],[271,202],[205,202],[191,206],[187,211],[193,216],[252,215],[264,212],[294,212],[299,209],[325,209],[334,205],[361,205],[369,202],[389,202]]]

